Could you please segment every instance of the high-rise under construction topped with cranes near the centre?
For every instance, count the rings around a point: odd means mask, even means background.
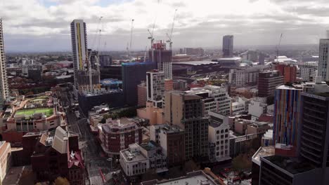
[[[172,50],[166,49],[166,43],[162,41],[154,43],[153,51],[150,50],[148,55],[150,60],[154,60],[151,62],[155,62],[156,69],[164,71],[164,78],[172,79]]]

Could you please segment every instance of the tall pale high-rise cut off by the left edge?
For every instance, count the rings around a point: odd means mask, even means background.
[[[4,33],[2,27],[2,20],[0,18],[0,108],[4,104],[4,100],[9,95],[8,90],[8,78],[7,78],[7,70],[6,70],[6,56],[4,53]]]

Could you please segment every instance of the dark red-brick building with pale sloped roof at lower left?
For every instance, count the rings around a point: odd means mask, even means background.
[[[56,128],[55,135],[41,135],[32,153],[31,165],[37,181],[65,177],[70,184],[85,184],[85,167],[78,135],[61,127]]]

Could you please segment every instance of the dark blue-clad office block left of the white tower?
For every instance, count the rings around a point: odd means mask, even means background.
[[[153,62],[129,62],[122,64],[122,89],[125,103],[136,106],[138,102],[137,85],[146,81],[146,72],[154,69]]]

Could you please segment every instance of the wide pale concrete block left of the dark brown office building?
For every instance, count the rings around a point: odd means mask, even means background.
[[[258,74],[262,69],[256,67],[230,69],[228,83],[232,86],[257,85]]]

